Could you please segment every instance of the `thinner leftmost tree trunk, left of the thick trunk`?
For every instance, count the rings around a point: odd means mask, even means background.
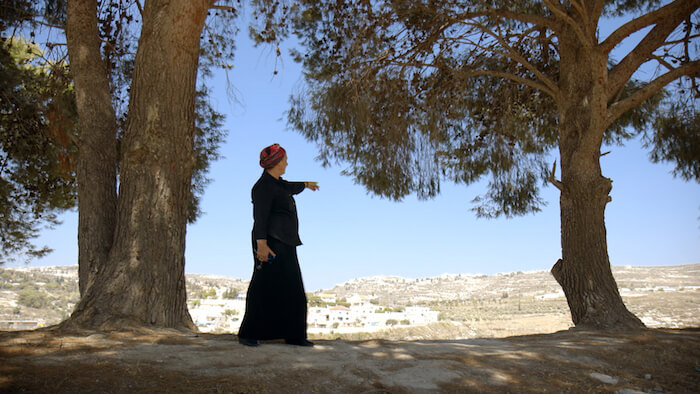
[[[66,39],[80,118],[78,273],[80,294],[107,261],[117,212],[116,115],[100,55],[95,0],[66,5]]]

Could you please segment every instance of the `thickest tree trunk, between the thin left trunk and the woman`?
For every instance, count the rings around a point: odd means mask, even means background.
[[[114,243],[68,326],[194,328],[186,305],[185,231],[199,39],[210,3],[145,3]]]

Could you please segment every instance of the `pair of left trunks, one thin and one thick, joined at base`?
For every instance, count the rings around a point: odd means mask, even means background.
[[[67,3],[81,130],[79,250],[96,271],[69,326],[194,328],[186,305],[185,229],[200,35],[212,4],[145,4],[117,193],[117,121],[100,53],[97,2]],[[81,256],[81,267],[85,263]]]

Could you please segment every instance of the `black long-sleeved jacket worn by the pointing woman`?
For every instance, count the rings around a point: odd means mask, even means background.
[[[301,245],[297,207],[292,196],[304,188],[304,182],[275,179],[263,171],[251,191],[254,241],[272,237],[288,245]]]

